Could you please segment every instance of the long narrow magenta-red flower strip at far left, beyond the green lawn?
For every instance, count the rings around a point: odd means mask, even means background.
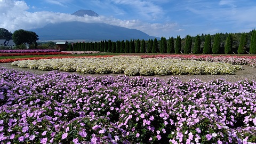
[[[22,56],[22,55],[58,55],[70,54],[68,52],[36,52],[36,53],[0,53],[0,57]]]

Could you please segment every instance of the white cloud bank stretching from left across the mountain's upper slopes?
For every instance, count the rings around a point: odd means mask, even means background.
[[[0,21],[0,27],[6,28],[9,31],[18,29],[32,29],[46,26],[48,23],[58,23],[66,21],[81,21],[81,22],[102,22],[110,25],[121,26],[126,28],[133,28],[141,30],[152,36],[159,36],[166,31],[174,30],[177,27],[177,23],[145,23],[140,20],[120,20],[113,17],[77,17],[75,15],[67,13],[55,13],[49,11],[28,12],[29,9],[24,1],[11,1],[4,0],[6,3],[0,1],[0,17],[3,21]]]

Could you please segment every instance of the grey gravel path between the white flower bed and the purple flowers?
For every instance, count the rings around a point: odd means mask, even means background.
[[[6,69],[15,69],[19,71],[29,71],[30,73],[36,74],[36,75],[43,75],[45,73],[49,73],[49,71],[43,71],[39,69],[28,69],[28,68],[19,68],[17,66],[12,66],[11,63],[0,63],[0,68],[4,67]],[[161,79],[168,79],[170,77],[178,77],[181,81],[187,82],[189,79],[201,79],[203,82],[209,82],[214,79],[226,79],[228,82],[237,82],[241,81],[243,79],[249,79],[256,81],[256,68],[250,67],[250,66],[243,66],[244,70],[238,70],[236,71],[235,75],[169,75],[169,76],[145,76],[145,77],[157,77]],[[79,73],[78,73],[79,74]],[[85,75],[80,74],[83,76],[106,76],[106,75]],[[108,76],[117,76],[122,74],[108,74]]]

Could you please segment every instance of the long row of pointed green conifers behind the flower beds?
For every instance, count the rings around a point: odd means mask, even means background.
[[[208,34],[205,36],[205,39],[201,39],[202,36],[197,35],[195,38],[192,38],[190,35],[187,35],[186,38],[181,39],[180,36],[177,38],[169,37],[166,40],[165,37],[161,37],[161,40],[157,38],[144,39],[130,41],[100,41],[100,42],[77,42],[70,43],[67,47],[67,51],[101,51],[101,52],[113,52],[113,53],[193,53],[193,54],[256,54],[256,32],[252,30],[252,35],[250,41],[248,40],[247,33],[242,33],[237,48],[234,46],[233,35],[228,34],[226,41],[222,42],[220,39],[220,34],[215,34],[213,43],[211,35]],[[194,39],[194,41],[193,41]],[[182,46],[182,41],[185,41],[185,44]],[[236,49],[234,49],[234,47]]]

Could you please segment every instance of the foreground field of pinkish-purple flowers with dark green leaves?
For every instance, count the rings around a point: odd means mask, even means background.
[[[39,76],[6,69],[0,81],[1,143],[256,141],[254,81],[183,83],[176,77]]]

